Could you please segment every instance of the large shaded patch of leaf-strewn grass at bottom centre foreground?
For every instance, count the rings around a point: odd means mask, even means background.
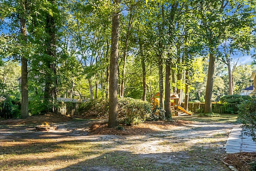
[[[219,159],[220,154],[208,151],[202,155],[201,150],[198,147],[192,147],[188,151],[148,154],[112,151],[57,171],[228,171]]]

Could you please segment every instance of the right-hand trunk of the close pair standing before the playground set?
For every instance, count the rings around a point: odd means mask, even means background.
[[[171,64],[170,64],[170,55],[166,59],[166,72],[165,72],[165,101],[164,101],[164,109],[165,109],[165,117],[170,118],[171,115],[171,106],[170,106],[170,80],[171,80]]]

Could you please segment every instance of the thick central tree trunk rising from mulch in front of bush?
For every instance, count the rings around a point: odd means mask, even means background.
[[[114,5],[119,6],[120,0],[114,0]],[[119,16],[116,9],[112,16],[111,54],[110,54],[110,78],[109,78],[109,117],[108,127],[118,126],[117,121],[117,66],[118,66],[118,39]]]

